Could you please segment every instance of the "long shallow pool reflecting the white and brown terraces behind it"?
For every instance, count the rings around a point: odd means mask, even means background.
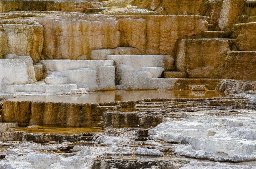
[[[145,98],[212,98],[221,97],[225,94],[208,91],[189,91],[189,90],[114,90],[90,92],[79,95],[52,95],[52,96],[18,96],[10,98],[9,101],[44,101],[62,103],[97,103],[132,101]]]

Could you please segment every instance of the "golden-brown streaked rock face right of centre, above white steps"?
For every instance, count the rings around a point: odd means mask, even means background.
[[[201,16],[129,16],[118,17],[121,45],[131,46],[147,54],[175,52],[178,39],[188,38],[208,29]]]

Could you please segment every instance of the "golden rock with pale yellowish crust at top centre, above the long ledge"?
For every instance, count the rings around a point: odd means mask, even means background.
[[[106,6],[112,8],[108,15],[203,15],[207,10],[206,0],[108,0]]]

